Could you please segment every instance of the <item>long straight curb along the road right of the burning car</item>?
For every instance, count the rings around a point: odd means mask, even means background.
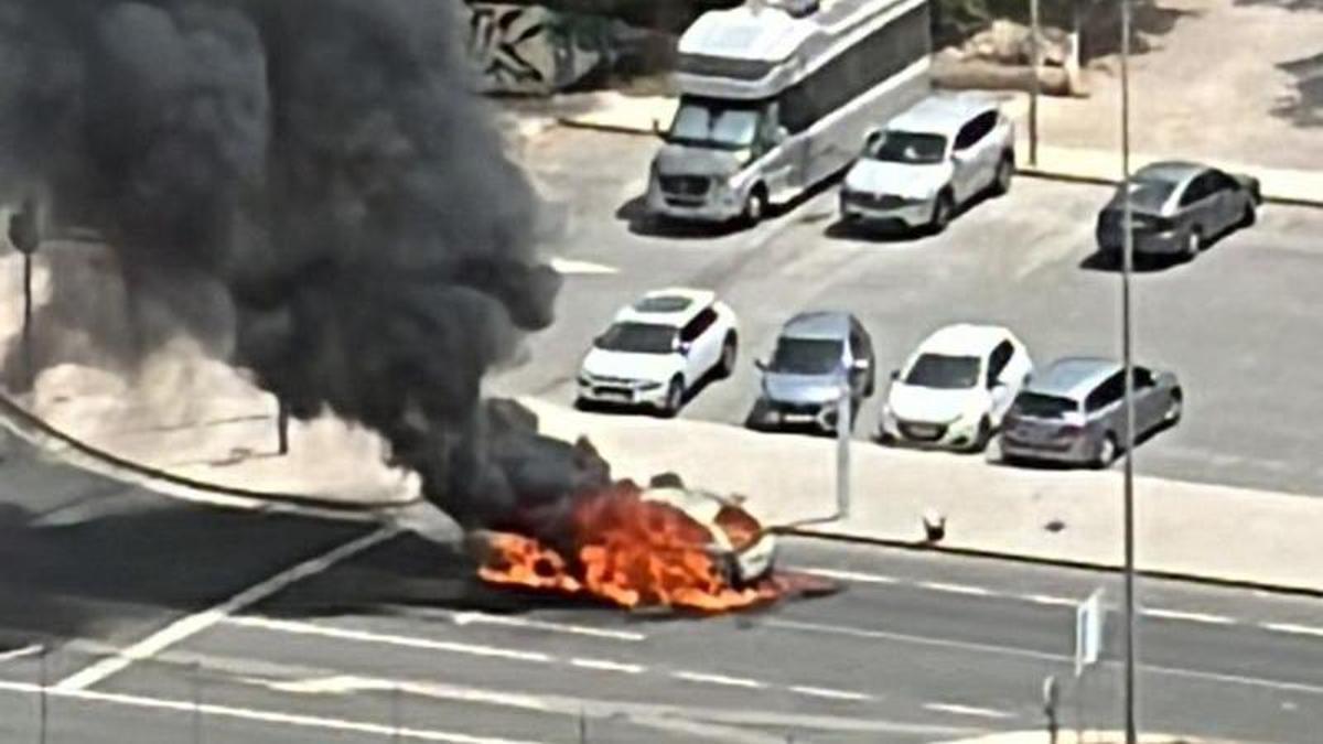
[[[794,535],[796,537],[807,537],[807,539],[826,540],[835,543],[852,543],[860,545],[876,545],[880,548],[889,548],[894,551],[906,551],[914,553],[925,553],[925,552],[941,553],[958,557],[975,557],[986,560],[1000,560],[1007,563],[1020,563],[1027,565],[1066,568],[1072,571],[1089,571],[1095,573],[1097,572],[1122,573],[1123,571],[1121,565],[1110,563],[1094,563],[1085,560],[1054,559],[1054,557],[1032,556],[1023,553],[1007,553],[1002,551],[990,551],[986,548],[970,548],[960,545],[939,545],[923,540],[897,540],[894,537],[871,537],[867,535],[847,535],[841,532],[824,532],[820,530],[800,530],[800,528],[790,528],[779,532],[783,535]],[[1225,579],[1218,576],[1203,576],[1197,573],[1183,573],[1179,571],[1154,571],[1147,568],[1136,569],[1135,575],[1143,579],[1181,581],[1185,584],[1200,584],[1204,586],[1216,586],[1222,589],[1248,589],[1248,590],[1269,592],[1273,594],[1283,594],[1293,597],[1323,598],[1323,589],[1310,589],[1306,586],[1287,586],[1281,584],[1266,584],[1244,579]]]

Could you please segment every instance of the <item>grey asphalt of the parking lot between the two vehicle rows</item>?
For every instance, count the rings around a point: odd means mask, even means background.
[[[1119,274],[1093,259],[1102,187],[1019,179],[1009,196],[972,207],[941,236],[843,236],[833,188],[753,230],[651,234],[635,218],[654,147],[562,128],[529,148],[561,216],[550,253],[581,265],[558,322],[531,340],[532,363],[491,389],[569,404],[590,339],[618,307],[667,285],[714,289],[741,320],[737,373],[701,391],[683,412],[692,418],[741,424],[757,395],[753,359],[806,308],[856,312],[884,373],[959,320],[1005,324],[1040,365],[1073,353],[1119,357]],[[1323,212],[1267,207],[1256,226],[1197,261],[1136,277],[1136,360],[1175,371],[1187,392],[1184,421],[1142,446],[1140,473],[1323,494],[1323,346],[1312,340],[1323,311],[1320,234]],[[859,436],[875,430],[877,406],[875,397]]]

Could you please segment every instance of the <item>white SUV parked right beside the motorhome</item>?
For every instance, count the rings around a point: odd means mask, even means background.
[[[845,221],[941,230],[957,209],[1015,173],[1015,124],[986,95],[934,95],[868,135],[845,173]]]

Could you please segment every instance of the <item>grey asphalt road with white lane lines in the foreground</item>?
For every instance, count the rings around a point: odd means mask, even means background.
[[[42,687],[62,744],[942,741],[1040,725],[1048,674],[1065,724],[1077,699],[1090,725],[1119,721],[1114,661],[1082,698],[1070,682],[1073,605],[1098,586],[1114,602],[1110,575],[789,541],[786,571],[841,590],[628,614],[484,586],[413,535],[0,469],[4,741],[37,740]],[[1144,581],[1142,604],[1148,728],[1316,737],[1316,600]]]

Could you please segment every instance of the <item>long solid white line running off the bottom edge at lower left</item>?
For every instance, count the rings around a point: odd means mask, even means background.
[[[40,695],[41,686],[25,682],[0,682],[0,691]],[[238,708],[233,706],[216,706],[210,703],[196,703],[193,700],[171,700],[164,698],[146,698],[140,695],[122,695],[115,692],[97,692],[93,690],[71,690],[49,687],[49,695],[83,700],[89,703],[106,703],[112,706],[127,706],[135,708],[149,708],[159,711],[173,711],[185,715],[206,715],[267,723],[274,725],[290,725],[298,728],[314,728],[321,731],[348,731],[366,733],[372,736],[409,739],[414,741],[443,741],[447,744],[538,744],[528,739],[500,739],[493,736],[472,736],[468,733],[455,733],[430,728],[394,728],[380,723],[351,720],[340,718],[323,718],[304,714],[287,714],[262,708]]]

